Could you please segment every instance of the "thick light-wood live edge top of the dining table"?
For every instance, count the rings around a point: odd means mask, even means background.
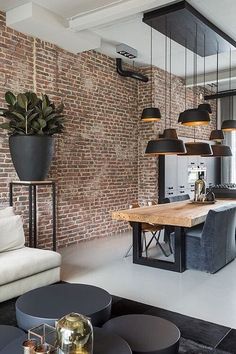
[[[217,199],[215,204],[194,204],[190,200],[158,204],[112,213],[112,219],[158,225],[192,227],[206,220],[209,210],[235,205],[236,199]]]

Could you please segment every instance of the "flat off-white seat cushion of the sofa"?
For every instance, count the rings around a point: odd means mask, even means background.
[[[60,267],[61,255],[54,251],[23,247],[0,253],[0,285]]]

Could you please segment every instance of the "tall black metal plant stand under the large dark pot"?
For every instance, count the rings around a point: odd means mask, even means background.
[[[9,202],[13,206],[14,186],[27,186],[29,192],[29,247],[37,247],[37,190],[38,187],[51,186],[52,188],[52,248],[56,251],[56,183],[54,181],[14,181],[9,184]]]

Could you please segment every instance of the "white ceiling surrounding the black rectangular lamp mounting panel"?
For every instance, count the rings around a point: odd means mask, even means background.
[[[28,0],[0,0],[0,10],[9,11]],[[50,10],[54,16],[52,21],[47,16],[34,16],[40,7],[35,7],[32,16],[22,19],[23,11],[16,11],[9,25],[22,32],[55,42],[68,50],[78,52],[96,49],[110,56],[117,56],[115,45],[125,43],[138,50],[137,65],[150,63],[150,27],[142,22],[143,12],[173,2],[171,0],[33,0],[34,4]],[[236,40],[236,1],[235,0],[189,0],[189,3],[200,11],[215,25]],[[18,8],[20,9],[20,7]],[[46,11],[46,10],[45,10]],[[33,13],[34,12],[34,13]],[[19,16],[21,13],[21,16]],[[46,14],[46,12],[44,12]],[[18,19],[17,16],[20,18]],[[13,19],[12,19],[13,18]],[[47,19],[46,19],[47,18]],[[30,19],[30,20],[29,20]],[[46,23],[47,21],[47,23]],[[45,23],[44,23],[45,22]],[[60,36],[53,36],[55,32]],[[62,24],[63,23],[63,24]],[[45,26],[44,26],[45,25]],[[48,27],[47,27],[48,26]],[[44,28],[42,30],[42,28]],[[50,35],[49,35],[50,32]],[[64,33],[64,35],[63,35]],[[69,37],[71,36],[71,41]],[[89,39],[88,39],[89,38]],[[100,41],[98,40],[100,38]],[[63,42],[64,40],[64,42]],[[68,43],[70,42],[70,45]],[[73,46],[75,48],[71,48]],[[82,44],[81,44],[82,43]],[[87,46],[85,45],[87,43]],[[153,33],[153,64],[164,68],[164,36],[157,31]],[[184,75],[184,48],[172,43],[173,73]],[[236,67],[236,51],[233,51],[233,66]],[[192,53],[188,53],[188,75],[193,73]],[[229,66],[227,53],[220,54],[220,70]],[[203,71],[203,59],[198,57],[199,73]],[[215,72],[216,57],[206,59],[207,72]],[[227,72],[224,73],[227,76]],[[213,76],[211,76],[213,77]],[[199,78],[201,81],[201,77]]]

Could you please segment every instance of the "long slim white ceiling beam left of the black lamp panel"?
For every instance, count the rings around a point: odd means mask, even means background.
[[[126,0],[87,14],[74,16],[68,21],[68,27],[82,31],[108,24],[131,15],[154,9],[166,4],[166,0]]]

